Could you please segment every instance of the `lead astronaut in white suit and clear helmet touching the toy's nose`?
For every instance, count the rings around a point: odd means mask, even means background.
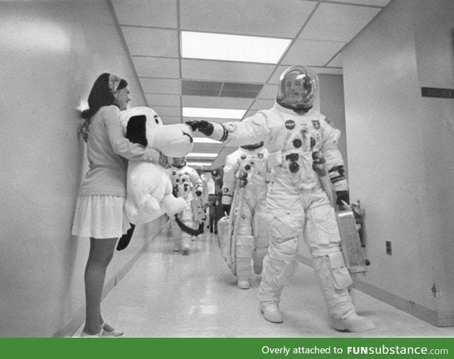
[[[348,287],[352,284],[341,253],[341,237],[330,201],[332,183],[349,203],[343,159],[338,151],[341,132],[312,109],[316,74],[305,67],[289,67],[279,77],[275,106],[241,122],[222,125],[204,120],[187,122],[193,130],[240,146],[263,141],[270,152],[267,224],[270,246],[263,261],[259,299],[263,317],[282,322],[282,289],[297,268],[298,237],[309,246],[314,270],[334,329],[365,331],[375,324],[356,313]],[[328,171],[327,171],[328,170]],[[329,181],[331,180],[331,181]]]

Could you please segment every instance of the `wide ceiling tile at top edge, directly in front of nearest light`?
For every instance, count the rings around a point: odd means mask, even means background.
[[[294,38],[314,1],[180,0],[182,30]]]

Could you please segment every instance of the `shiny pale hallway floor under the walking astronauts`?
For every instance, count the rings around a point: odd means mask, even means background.
[[[377,329],[335,331],[328,322],[314,270],[302,263],[284,287],[280,304],[284,323],[272,324],[260,313],[260,276],[251,280],[249,290],[238,289],[221,258],[216,234],[197,237],[187,256],[172,249],[167,226],[104,299],[104,319],[123,329],[123,337],[454,336],[454,327],[438,328],[358,290],[353,290],[358,314],[372,319]],[[80,331],[82,327],[74,335]]]

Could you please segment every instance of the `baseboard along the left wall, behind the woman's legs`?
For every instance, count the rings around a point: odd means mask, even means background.
[[[121,268],[121,270],[119,270],[118,273],[116,273],[114,278],[111,278],[111,280],[108,280],[104,284],[103,297],[102,297],[103,300],[106,297],[106,295],[108,295],[109,292],[112,289],[114,289],[114,287],[116,285],[118,285],[118,283],[120,283],[120,280],[122,280],[123,277],[126,275],[126,273],[128,273],[128,271],[131,270],[131,268],[134,266],[134,263],[138,261],[138,258],[143,254],[143,252],[145,252],[148,249],[150,244],[153,242],[153,239],[155,239],[160,234],[162,229],[164,229],[166,226],[167,226],[167,222],[162,224],[159,231],[157,231],[157,233],[152,237],[152,239],[150,241],[148,241],[147,243],[145,243],[143,245],[142,249],[140,249],[140,251],[138,251],[135,254],[135,256],[133,256],[133,258],[131,258],[127,263],[125,263],[125,265]],[[62,328],[59,331],[57,331],[57,333],[55,333],[53,335],[53,337],[54,338],[68,338],[68,337],[73,336],[74,333],[77,331],[77,329],[79,329],[80,326],[82,326],[82,324],[84,324],[84,321],[85,321],[85,305],[83,307],[81,307],[76,312],[76,314],[74,314],[74,316],[69,321],[67,321],[67,323],[64,326],[62,326]]]

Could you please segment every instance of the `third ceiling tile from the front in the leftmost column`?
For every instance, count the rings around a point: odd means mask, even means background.
[[[138,77],[179,79],[178,59],[133,56],[133,63]]]

